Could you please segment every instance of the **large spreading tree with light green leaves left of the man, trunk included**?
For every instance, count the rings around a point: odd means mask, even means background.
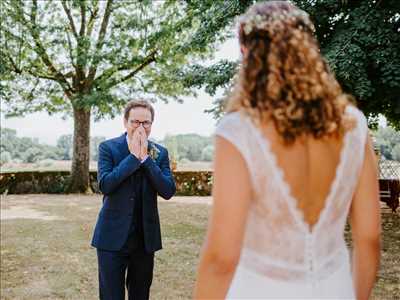
[[[71,192],[89,189],[90,119],[132,97],[193,94],[179,70],[206,58],[248,1],[1,1],[1,86],[9,116],[74,119]]]

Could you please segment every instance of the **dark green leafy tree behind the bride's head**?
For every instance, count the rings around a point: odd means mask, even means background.
[[[255,2],[255,1],[250,1]],[[293,0],[310,14],[316,36],[337,79],[377,125],[377,115],[400,129],[400,1]],[[252,3],[247,3],[252,4]],[[182,72],[187,85],[204,86],[211,95],[229,90],[237,62],[189,65]],[[211,112],[223,113],[217,99]]]

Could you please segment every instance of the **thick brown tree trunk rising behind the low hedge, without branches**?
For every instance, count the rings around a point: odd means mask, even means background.
[[[90,110],[73,108],[74,110],[74,151],[72,156],[71,180],[69,193],[90,193]]]

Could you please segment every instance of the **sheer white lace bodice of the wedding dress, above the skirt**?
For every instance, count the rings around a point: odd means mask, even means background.
[[[311,230],[261,130],[239,112],[220,121],[216,135],[241,153],[254,191],[240,259],[246,267],[278,280],[323,280],[348,261],[344,228],[368,129],[357,108],[348,106],[346,114],[356,119],[356,126],[344,137],[335,179]]]

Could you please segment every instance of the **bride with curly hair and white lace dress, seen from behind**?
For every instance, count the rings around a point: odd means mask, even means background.
[[[364,115],[289,2],[239,21],[243,61],[216,130],[213,208],[196,299],[368,299],[380,256]],[[352,228],[352,263],[344,241]]]

